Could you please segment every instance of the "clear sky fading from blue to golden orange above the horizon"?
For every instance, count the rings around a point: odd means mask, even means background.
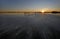
[[[45,8],[60,11],[60,0],[0,0],[0,10],[39,11]]]

